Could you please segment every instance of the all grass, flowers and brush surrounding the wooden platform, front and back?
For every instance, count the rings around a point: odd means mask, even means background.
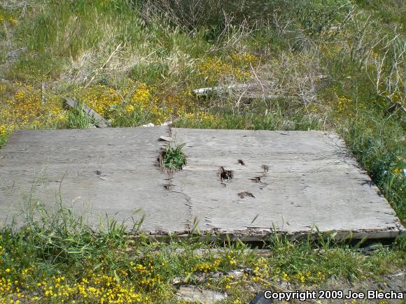
[[[89,127],[80,111],[64,108],[66,96],[113,126],[335,130],[405,223],[405,7],[401,0],[0,1],[0,146],[18,129]],[[193,94],[204,87],[223,89]],[[174,244],[127,240],[117,226],[94,234],[72,222],[27,222],[0,237],[5,301],[172,301],[175,277],[252,268],[244,280],[204,281],[239,303],[258,275],[316,284],[321,274],[355,280],[405,267],[401,245],[362,256],[342,245],[314,253],[311,243],[272,243],[271,257],[260,260],[239,249],[196,256],[190,248],[209,245],[195,240],[176,243],[184,254],[168,253]]]

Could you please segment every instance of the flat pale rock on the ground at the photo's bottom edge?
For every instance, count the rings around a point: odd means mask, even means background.
[[[227,298],[227,294],[209,289],[197,289],[193,286],[182,286],[176,293],[179,301],[197,303],[216,303]]]

